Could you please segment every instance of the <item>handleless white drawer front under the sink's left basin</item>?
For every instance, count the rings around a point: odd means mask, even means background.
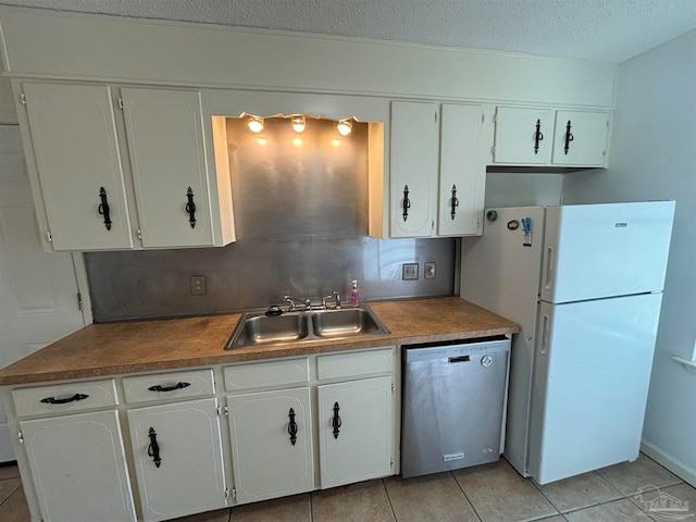
[[[309,382],[309,360],[253,362],[224,369],[225,389],[263,388]]]

